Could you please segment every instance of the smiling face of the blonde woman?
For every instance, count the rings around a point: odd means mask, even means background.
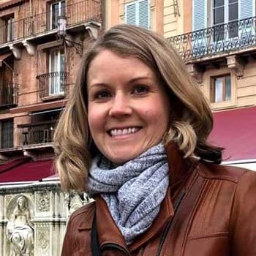
[[[87,86],[91,136],[110,161],[127,162],[162,140],[170,104],[142,61],[102,50],[91,61]]]

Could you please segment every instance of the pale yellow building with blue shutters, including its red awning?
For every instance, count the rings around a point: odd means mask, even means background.
[[[211,142],[226,148],[226,163],[256,170],[255,0],[116,0],[106,6],[106,28],[143,26],[177,49],[214,111]]]

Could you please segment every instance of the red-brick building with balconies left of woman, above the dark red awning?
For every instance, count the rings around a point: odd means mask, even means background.
[[[54,124],[72,93],[83,49],[102,26],[96,0],[0,4],[2,159],[53,155]],[[58,35],[59,17],[67,26]]]

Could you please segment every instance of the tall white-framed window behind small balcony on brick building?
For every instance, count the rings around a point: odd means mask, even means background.
[[[55,58],[56,52],[57,55],[57,68],[55,68],[54,64],[52,63],[52,56]],[[61,50],[51,50],[49,53],[49,73],[50,72],[61,72],[64,70],[61,70]],[[64,88],[61,90],[61,75],[59,75],[57,78],[49,78],[49,95],[56,95],[56,94],[64,94]]]

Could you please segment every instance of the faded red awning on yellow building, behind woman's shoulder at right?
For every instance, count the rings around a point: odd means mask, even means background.
[[[209,142],[225,148],[225,161],[256,159],[256,107],[214,113]]]

